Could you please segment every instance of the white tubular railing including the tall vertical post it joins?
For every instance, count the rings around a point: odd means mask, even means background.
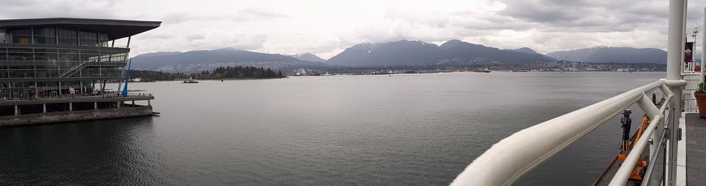
[[[628,157],[610,185],[625,185],[630,172],[645,147],[650,145],[650,162],[647,165],[642,185],[676,185],[676,160],[678,148],[678,120],[685,99],[682,89],[687,84],[684,73],[684,37],[686,25],[686,0],[669,0],[669,24],[667,32],[666,80],[630,90],[616,97],[600,101],[583,109],[547,120],[493,144],[493,147],[478,156],[456,177],[451,185],[511,185],[532,168],[546,161],[572,142],[602,125],[616,114],[634,104],[652,119],[644,136],[635,143]],[[706,9],[705,20],[706,23]],[[704,37],[706,43],[706,37]],[[706,54],[706,48],[703,54]],[[690,63],[689,70],[693,68]],[[705,68],[702,66],[702,69]],[[701,79],[701,78],[700,78]],[[698,82],[698,81],[697,81]],[[657,109],[647,94],[660,89],[666,102]],[[686,92],[689,94],[690,92]],[[689,97],[686,97],[689,98]],[[660,127],[662,126],[662,127]],[[667,149],[669,147],[669,149]],[[658,157],[662,157],[660,164]],[[669,158],[667,158],[669,157]],[[669,164],[669,166],[667,166]],[[662,165],[662,169],[658,169]]]

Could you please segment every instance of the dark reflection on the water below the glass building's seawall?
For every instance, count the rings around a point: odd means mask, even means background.
[[[142,185],[145,180],[159,184],[163,176],[152,171],[160,169],[155,167],[160,163],[155,161],[159,147],[153,120],[2,128],[0,185]]]

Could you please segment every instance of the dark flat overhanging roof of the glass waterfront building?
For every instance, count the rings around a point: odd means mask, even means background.
[[[108,20],[90,18],[32,18],[0,20],[0,28],[61,27],[107,34],[109,40],[137,35],[160,27],[161,21]]]

